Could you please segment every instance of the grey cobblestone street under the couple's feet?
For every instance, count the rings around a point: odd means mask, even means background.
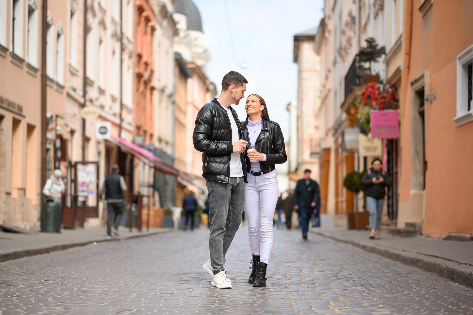
[[[0,264],[0,314],[473,314],[473,291],[299,230],[274,230],[268,286],[247,283],[246,227],[227,254],[233,289],[210,286],[208,229]]]

